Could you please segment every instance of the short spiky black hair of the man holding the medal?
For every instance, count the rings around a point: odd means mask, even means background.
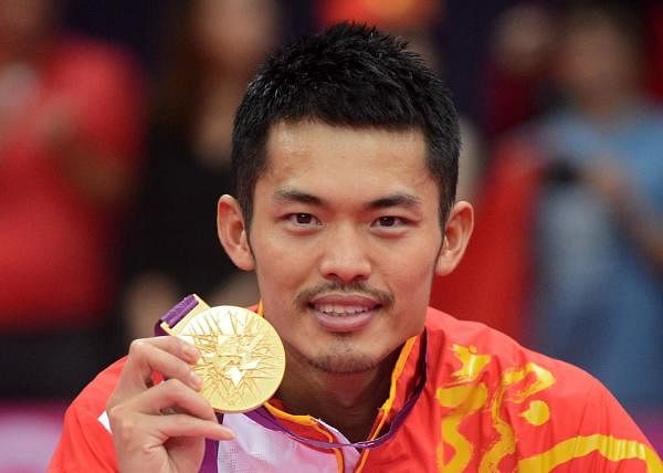
[[[255,185],[269,166],[266,140],[277,123],[421,129],[428,168],[440,188],[440,218],[455,199],[460,132],[450,93],[407,42],[375,28],[339,23],[270,55],[249,84],[232,137],[235,197],[246,225]]]

